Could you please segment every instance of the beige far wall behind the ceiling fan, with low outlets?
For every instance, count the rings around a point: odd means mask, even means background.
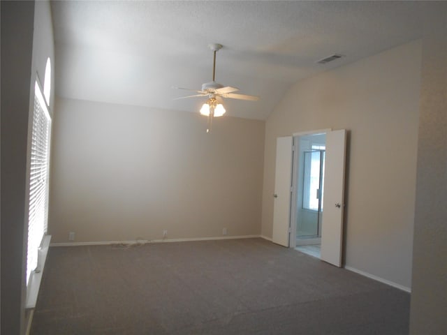
[[[260,234],[264,125],[57,99],[52,242]]]

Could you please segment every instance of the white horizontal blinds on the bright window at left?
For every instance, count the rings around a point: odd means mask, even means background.
[[[29,175],[27,284],[31,272],[38,266],[38,248],[41,245],[43,235],[47,232],[50,131],[50,114],[41,88],[36,82]]]

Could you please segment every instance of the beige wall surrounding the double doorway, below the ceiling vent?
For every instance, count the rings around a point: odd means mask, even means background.
[[[345,263],[411,287],[421,43],[295,84],[265,125],[262,234],[272,236],[276,138],[349,131]]]

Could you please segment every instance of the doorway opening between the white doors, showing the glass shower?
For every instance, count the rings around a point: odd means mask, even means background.
[[[325,142],[325,133],[293,137],[295,194],[291,218],[295,248],[316,258],[321,255]]]

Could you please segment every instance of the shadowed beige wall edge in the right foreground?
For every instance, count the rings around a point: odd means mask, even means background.
[[[410,334],[447,334],[447,3],[427,17],[413,247]]]

